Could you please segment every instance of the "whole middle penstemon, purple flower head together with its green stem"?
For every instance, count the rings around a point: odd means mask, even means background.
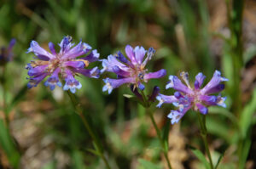
[[[166,76],[166,70],[161,69],[148,73],[146,65],[148,60],[152,59],[152,56],[155,53],[154,48],[148,48],[147,51],[143,47],[137,46],[136,48],[132,48],[130,45],[127,45],[125,47],[125,53],[128,59],[125,58],[121,52],[118,52],[114,56],[109,55],[108,59],[102,59],[102,72],[106,70],[117,75],[117,79],[103,79],[106,84],[102,90],[103,92],[108,91],[108,93],[111,93],[113,88],[117,88],[123,84],[130,85],[131,92],[136,95],[139,103],[142,104],[147,110],[150,120],[152,121],[154,129],[157,132],[157,136],[160,140],[160,145],[166,158],[168,168],[172,169],[171,162],[168,158],[168,149],[166,149],[165,141],[161,136],[159,127],[156,125],[153,113],[148,109],[154,102],[154,99],[159,93],[160,89],[159,87],[154,87],[153,92],[148,97],[143,91],[145,89],[145,85],[143,84],[144,82],[148,82],[148,80],[152,78]],[[146,54],[147,56],[145,58]]]

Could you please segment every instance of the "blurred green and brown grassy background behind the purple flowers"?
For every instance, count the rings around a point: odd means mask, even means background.
[[[148,70],[165,68],[168,76],[186,70],[194,81],[201,71],[208,81],[214,70],[221,70],[230,79],[223,93],[227,109],[213,107],[207,115],[213,161],[217,163],[224,154],[219,168],[255,167],[255,9],[253,0],[1,0],[0,46],[7,46],[13,37],[17,42],[14,60],[1,78],[0,167],[105,168],[91,152],[91,138],[67,93],[58,87],[51,92],[42,82],[26,89],[25,65],[33,57],[26,54],[29,43],[36,40],[48,48],[48,42],[59,43],[67,35],[74,42],[89,43],[102,59],[124,52],[126,44],[153,47],[156,54]],[[157,85],[160,93],[172,94],[165,89],[168,76],[148,82],[146,92]],[[111,95],[102,93],[102,77],[79,77],[83,87],[77,96],[110,165],[113,169],[165,168],[143,107],[123,97],[131,94],[126,86]],[[159,127],[169,133],[173,168],[204,168],[189,148],[203,150],[195,113],[188,112],[181,123],[171,126],[166,115],[172,108],[169,104],[152,110]]]

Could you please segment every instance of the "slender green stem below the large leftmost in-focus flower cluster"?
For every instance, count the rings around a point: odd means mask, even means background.
[[[72,104],[73,104],[73,107],[74,107],[75,111],[81,117],[81,119],[83,121],[83,124],[84,124],[84,127],[86,128],[87,132],[89,132],[90,137],[92,138],[93,142],[95,143],[97,152],[99,153],[100,157],[104,161],[104,163],[107,166],[107,168],[111,169],[111,167],[108,164],[108,160],[106,159],[105,155],[103,155],[103,150],[102,150],[101,144],[99,143],[98,139],[96,138],[96,135],[94,134],[94,132],[90,128],[90,125],[89,125],[88,121],[84,117],[84,114],[83,114],[83,111],[82,111],[82,109],[81,109],[81,107],[79,105],[79,102],[77,101],[75,96],[72,93],[70,93],[70,91],[68,91],[67,93],[68,93],[69,98],[72,101]]]

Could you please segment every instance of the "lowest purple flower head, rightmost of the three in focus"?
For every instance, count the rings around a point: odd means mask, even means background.
[[[224,104],[226,97],[221,97],[220,94],[217,96],[210,95],[221,92],[224,89],[224,84],[220,82],[228,81],[227,78],[221,76],[220,71],[215,70],[212,79],[203,88],[201,88],[201,85],[206,76],[202,73],[195,76],[194,88],[189,85],[189,74],[187,72],[182,72],[180,76],[186,85],[177,76],[169,76],[170,82],[166,85],[166,89],[173,88],[176,92],[172,96],[159,94],[156,98],[159,100],[157,107],[160,107],[161,104],[173,104],[178,108],[177,110],[171,110],[168,115],[168,118],[172,120],[172,124],[177,123],[189,109],[200,111],[201,114],[206,115],[208,106],[219,105],[226,107],[226,104]]]

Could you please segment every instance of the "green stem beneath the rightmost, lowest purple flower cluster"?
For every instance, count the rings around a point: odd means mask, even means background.
[[[209,150],[209,145],[207,143],[207,126],[206,126],[206,116],[203,115],[203,120],[201,119],[201,114],[200,113],[196,113],[197,117],[199,119],[199,123],[200,123],[200,127],[201,127],[201,138],[203,139],[204,145],[205,145],[205,149],[207,151],[207,156],[209,158],[210,161],[210,165],[211,168],[214,169],[213,167],[213,163],[212,163],[212,156]]]

